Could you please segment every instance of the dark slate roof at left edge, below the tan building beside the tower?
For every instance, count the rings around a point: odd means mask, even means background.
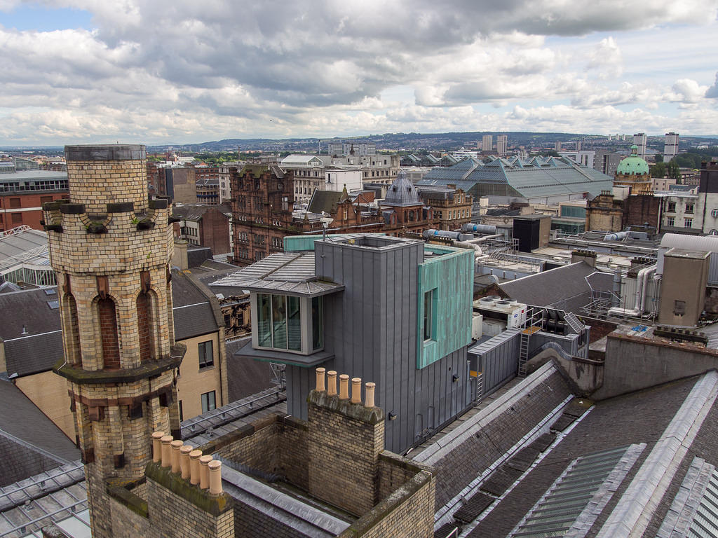
[[[0,486],[80,457],[75,444],[22,392],[0,380]]]

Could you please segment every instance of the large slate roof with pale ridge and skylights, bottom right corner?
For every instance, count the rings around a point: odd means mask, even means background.
[[[623,536],[623,529],[630,524],[633,514],[645,510],[644,514],[649,514],[650,521],[638,536],[655,537],[694,456],[718,463],[718,407],[714,394],[712,399],[706,397],[714,390],[711,386],[715,384],[715,379],[710,379],[711,376],[715,377],[715,374],[683,379],[597,402],[493,509],[482,514],[482,519],[468,536],[508,536],[575,458],[600,450],[646,443],[645,450],[616,493],[600,514],[596,514],[587,535]],[[691,439],[690,434],[686,438],[681,437],[691,429],[692,420],[701,420],[697,409],[702,404],[709,405],[710,410],[696,437]],[[696,412],[691,411],[694,406],[697,407]],[[666,472],[673,472],[668,458],[673,455],[674,441],[679,445],[683,443],[689,450],[686,456],[681,456],[681,450],[675,452],[679,467],[668,484],[666,494],[662,494],[661,488],[654,489],[654,486],[662,477],[670,478],[671,474],[666,475]],[[632,483],[634,478],[636,482]],[[644,478],[647,480],[645,483]],[[648,498],[650,502],[646,501]],[[612,522],[617,522],[620,527],[613,527]]]

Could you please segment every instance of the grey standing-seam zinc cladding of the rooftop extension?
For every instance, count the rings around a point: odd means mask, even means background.
[[[316,274],[344,285],[325,296],[323,367],[376,382],[376,405],[386,422],[388,450],[402,452],[469,403],[465,348],[416,368],[418,265],[424,243],[388,237],[314,243]],[[454,374],[458,379],[453,381]],[[305,418],[312,369],[287,367],[289,412]]]

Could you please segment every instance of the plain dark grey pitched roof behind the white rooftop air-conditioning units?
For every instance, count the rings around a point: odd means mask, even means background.
[[[504,293],[519,303],[581,313],[580,309],[591,302],[592,286],[603,291],[611,290],[612,275],[601,273],[580,261],[499,285]]]

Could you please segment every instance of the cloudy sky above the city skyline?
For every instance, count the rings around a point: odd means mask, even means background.
[[[718,0],[0,0],[0,144],[718,134]]]

